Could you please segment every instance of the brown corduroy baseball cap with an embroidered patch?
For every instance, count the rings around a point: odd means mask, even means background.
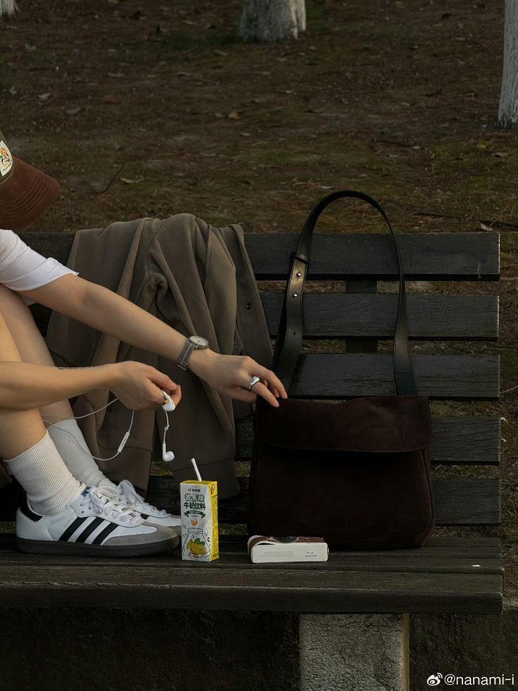
[[[11,154],[0,132],[0,228],[20,230],[58,196],[59,182]]]

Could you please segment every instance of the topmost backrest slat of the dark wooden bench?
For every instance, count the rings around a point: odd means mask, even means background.
[[[74,234],[20,232],[30,247],[66,263]],[[286,278],[298,233],[254,233],[246,249],[258,279]],[[498,233],[398,233],[408,280],[498,280]],[[313,238],[310,279],[391,280],[396,259],[391,238],[376,233],[318,233]]]

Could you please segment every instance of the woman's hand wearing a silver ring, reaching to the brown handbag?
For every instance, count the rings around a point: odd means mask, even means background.
[[[189,358],[189,369],[213,389],[246,403],[253,403],[259,395],[278,407],[277,398],[288,397],[277,375],[247,355],[220,355],[209,348],[194,350]],[[248,391],[253,376],[260,381]]]

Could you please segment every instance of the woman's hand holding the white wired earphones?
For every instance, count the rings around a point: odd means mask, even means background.
[[[115,363],[113,367],[115,382],[110,389],[131,410],[159,410],[165,402],[162,391],[170,395],[175,405],[182,399],[180,385],[154,367],[132,360]]]

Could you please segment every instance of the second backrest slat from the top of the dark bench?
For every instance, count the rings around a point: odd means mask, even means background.
[[[261,300],[270,336],[277,337],[283,295],[264,292]],[[304,337],[391,339],[397,300],[387,293],[306,293]],[[408,295],[408,328],[419,340],[495,340],[498,297]]]

